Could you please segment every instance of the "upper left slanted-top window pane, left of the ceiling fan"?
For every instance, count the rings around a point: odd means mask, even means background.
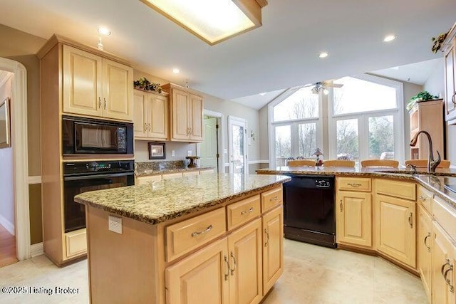
[[[273,108],[274,122],[318,118],[318,94],[300,88]]]

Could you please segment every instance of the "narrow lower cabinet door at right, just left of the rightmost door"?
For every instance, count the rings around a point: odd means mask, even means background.
[[[431,302],[431,230],[432,219],[427,211],[420,206],[420,223],[418,232],[418,271],[425,288],[427,298]]]

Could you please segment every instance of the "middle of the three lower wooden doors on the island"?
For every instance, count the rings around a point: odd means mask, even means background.
[[[261,219],[228,236],[229,303],[259,303],[263,298]]]

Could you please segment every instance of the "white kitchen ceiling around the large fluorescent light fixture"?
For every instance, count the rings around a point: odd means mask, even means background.
[[[431,37],[456,21],[455,0],[268,2],[263,26],[215,46],[140,0],[1,0],[0,22],[91,46],[97,26],[107,26],[113,34],[103,38],[105,51],[147,73],[180,84],[188,79],[191,88],[234,99],[441,58],[430,51]],[[398,38],[383,43],[389,33]],[[321,51],[328,58],[319,59]]]

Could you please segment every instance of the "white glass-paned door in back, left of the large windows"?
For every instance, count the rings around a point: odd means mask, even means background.
[[[228,116],[229,173],[249,174],[247,164],[247,120]]]

